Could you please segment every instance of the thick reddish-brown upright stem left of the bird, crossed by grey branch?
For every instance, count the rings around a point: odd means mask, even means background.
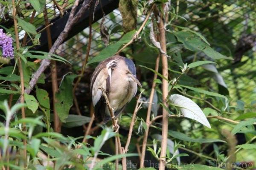
[[[45,22],[45,27],[49,26],[46,7],[44,8],[44,22]],[[51,30],[49,27],[46,28],[46,33],[47,33],[48,49],[50,50],[52,48],[52,37],[51,37]],[[55,94],[58,91],[58,75],[57,75],[57,65],[55,60],[51,61],[51,78],[52,78],[52,98],[53,98],[52,103],[53,103],[53,115],[54,115],[54,119],[53,119],[54,131],[60,133],[61,122],[55,107],[55,104],[57,101]]]

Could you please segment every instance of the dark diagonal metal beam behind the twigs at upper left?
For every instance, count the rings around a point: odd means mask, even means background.
[[[102,3],[102,5],[100,4]],[[105,15],[109,14],[114,9],[118,8],[119,0],[101,0],[99,5],[96,7],[94,11],[94,20],[93,23],[95,23],[97,20],[101,19],[103,17],[102,10],[104,11]],[[102,6],[102,8],[101,8]],[[81,3],[77,7],[77,11],[81,8]],[[94,8],[94,5],[91,6],[91,8]],[[51,30],[51,37],[52,37],[52,43],[55,42],[55,40],[58,38],[59,34],[61,34],[61,31],[64,30],[64,27],[67,23],[67,19],[70,15],[71,8],[67,10],[67,14],[65,14],[63,17],[56,17],[53,20],[51,20],[50,23],[53,23],[52,26],[50,26]],[[86,11],[84,16],[71,28],[68,37],[64,40],[67,41],[74,35],[78,34],[84,28],[87,28],[89,26],[89,10]],[[44,29],[44,26],[38,28],[37,31],[40,31]],[[47,33],[46,30],[41,32],[41,38],[40,38],[40,45],[37,45],[34,48],[34,50],[37,51],[47,51],[48,52],[48,42],[47,42]],[[28,45],[32,45],[32,42],[30,41]]]

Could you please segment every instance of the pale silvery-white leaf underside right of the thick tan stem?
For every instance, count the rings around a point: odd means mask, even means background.
[[[209,124],[206,116],[204,115],[204,112],[191,99],[179,94],[172,94],[169,99],[173,105],[179,107],[181,113],[185,117],[194,119],[202,125],[211,128],[211,125]]]

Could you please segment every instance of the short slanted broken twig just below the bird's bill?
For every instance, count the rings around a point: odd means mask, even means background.
[[[143,91],[140,93],[140,96],[137,99],[136,106],[135,106],[135,109],[134,109],[134,113],[133,113],[132,118],[131,118],[131,125],[130,125],[130,128],[129,128],[129,133],[128,133],[128,137],[127,137],[127,141],[126,141],[125,149],[124,149],[125,153],[127,153],[128,147],[129,147],[130,142],[131,142],[131,135],[132,135],[132,131],[133,131],[133,127],[134,127],[134,124],[135,124],[137,113],[142,108],[141,107],[142,102],[140,102],[140,98],[141,98],[142,93],[143,93]]]

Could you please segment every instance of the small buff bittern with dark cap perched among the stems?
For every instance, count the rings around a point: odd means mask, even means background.
[[[90,83],[95,118],[104,123],[111,120],[100,88],[105,90],[114,115],[117,116],[136,95],[137,85],[141,87],[131,59],[116,55],[99,63]]]

